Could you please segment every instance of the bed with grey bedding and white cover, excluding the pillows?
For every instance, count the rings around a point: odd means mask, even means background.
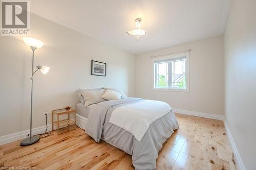
[[[132,155],[135,169],[155,169],[162,144],[178,129],[173,109],[167,105],[139,98],[103,101],[87,107],[80,103],[76,124],[95,141],[104,140]]]

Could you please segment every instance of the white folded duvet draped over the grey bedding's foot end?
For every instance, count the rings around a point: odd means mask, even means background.
[[[172,108],[164,102],[143,100],[116,108],[110,117],[110,123],[132,133],[140,141],[148,127]]]

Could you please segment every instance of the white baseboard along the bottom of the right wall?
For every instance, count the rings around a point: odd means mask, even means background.
[[[237,168],[239,170],[245,170],[244,163],[243,163],[243,161],[241,159],[241,156],[238,152],[237,145],[236,145],[236,143],[234,143],[233,137],[232,137],[232,135],[229,131],[229,128],[228,128],[228,125],[227,125],[227,122],[226,122],[225,118],[223,119],[223,122],[224,122],[225,129],[226,129],[226,132],[227,132],[227,136],[228,136],[228,139],[229,139],[230,147],[232,148],[233,153],[234,153],[234,158],[237,161],[236,162],[237,163]]]

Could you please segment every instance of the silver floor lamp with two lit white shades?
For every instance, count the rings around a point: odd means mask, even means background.
[[[30,46],[31,50],[32,50],[32,75],[31,75],[31,101],[30,101],[30,135],[28,138],[22,140],[20,142],[20,145],[24,146],[24,145],[29,145],[29,144],[33,144],[37,141],[40,140],[40,138],[38,136],[32,136],[32,102],[33,102],[33,77],[34,74],[36,73],[36,71],[40,70],[42,72],[42,74],[47,74],[47,72],[49,71],[50,67],[47,66],[40,66],[37,65],[36,66],[36,70],[34,71],[34,52],[36,50],[36,48],[40,48],[42,47],[42,45],[44,45],[44,42],[35,39],[35,38],[30,38],[30,37],[24,37],[23,41]]]

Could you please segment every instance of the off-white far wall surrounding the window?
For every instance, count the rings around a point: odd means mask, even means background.
[[[189,50],[189,92],[153,91],[150,56]],[[175,109],[224,114],[223,36],[189,42],[136,57],[136,96],[160,100]]]

